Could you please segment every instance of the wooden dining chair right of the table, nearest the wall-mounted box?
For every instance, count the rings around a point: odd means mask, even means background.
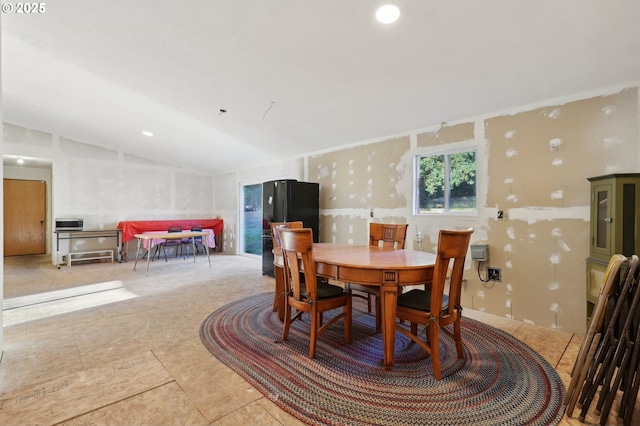
[[[433,375],[442,380],[440,366],[440,331],[453,337],[458,358],[463,358],[460,319],[462,307],[462,274],[464,260],[469,249],[473,229],[466,231],[441,230],[438,236],[438,252],[430,289],[414,289],[398,295],[397,316],[401,321],[411,323],[410,330],[396,324],[396,329],[419,344],[431,354]],[[449,285],[447,274],[451,270]],[[446,288],[448,287],[448,292]],[[427,340],[418,337],[418,324],[426,325]],[[453,330],[446,328],[453,325]]]

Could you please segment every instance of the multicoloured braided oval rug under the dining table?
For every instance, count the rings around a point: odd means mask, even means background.
[[[542,356],[508,333],[463,318],[465,359],[441,339],[443,380],[430,356],[396,333],[395,366],[382,366],[375,318],[354,299],[352,343],[342,321],[318,339],[310,360],[309,316],[283,324],[273,293],[241,299],[210,314],[200,327],[209,351],[267,398],[314,425],[554,425],[565,388]],[[330,318],[331,313],[325,313]]]

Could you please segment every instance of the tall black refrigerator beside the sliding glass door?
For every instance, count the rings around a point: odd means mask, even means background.
[[[301,220],[318,242],[320,185],[297,180],[273,180],[262,184],[262,275],[274,276],[271,222]]]

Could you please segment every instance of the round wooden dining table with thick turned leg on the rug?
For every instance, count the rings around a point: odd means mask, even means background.
[[[284,321],[284,273],[282,250],[273,249],[278,296],[278,316]],[[433,278],[436,255],[421,251],[315,243],[313,259],[318,276],[344,283],[380,287],[383,364],[393,368],[396,304],[402,286],[424,285]]]

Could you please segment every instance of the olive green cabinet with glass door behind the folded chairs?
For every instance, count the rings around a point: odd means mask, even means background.
[[[611,256],[640,248],[640,173],[611,174],[591,182],[590,249],[587,259],[587,313],[598,299]]]

